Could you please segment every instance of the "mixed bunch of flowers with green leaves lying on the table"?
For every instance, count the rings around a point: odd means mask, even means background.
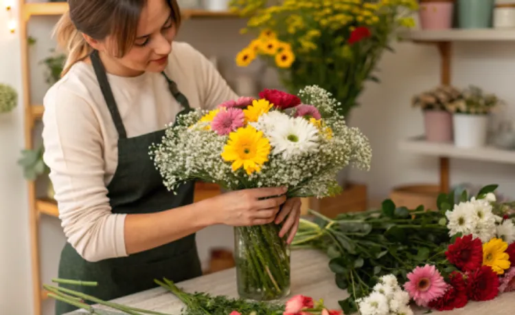
[[[325,250],[336,284],[350,296],[346,314],[413,314],[515,290],[513,203],[496,202],[496,185],[477,195],[441,194],[438,209],[396,207],[316,221],[302,219],[294,245]],[[399,287],[396,287],[399,285]],[[402,289],[400,289],[402,288]]]

